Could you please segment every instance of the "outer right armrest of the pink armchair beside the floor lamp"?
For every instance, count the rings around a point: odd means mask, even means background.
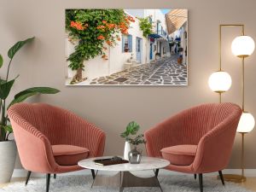
[[[232,113],[229,118],[207,132],[198,144],[192,164],[195,172],[218,172],[229,163],[240,113]]]

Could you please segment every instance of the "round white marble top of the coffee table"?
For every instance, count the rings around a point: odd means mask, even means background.
[[[98,166],[95,164],[93,160],[97,159],[107,159],[112,158],[112,156],[104,156],[104,157],[96,157],[89,158],[85,160],[79,161],[79,166],[84,167],[86,169],[94,169],[99,171],[113,171],[113,172],[134,172],[134,171],[144,171],[144,170],[153,170],[160,169],[170,165],[169,160],[163,160],[160,158],[154,157],[142,157],[142,160],[139,164],[117,164],[111,166]]]

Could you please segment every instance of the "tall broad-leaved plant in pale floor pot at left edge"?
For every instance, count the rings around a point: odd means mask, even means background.
[[[27,38],[24,41],[17,42],[8,51],[9,65],[7,69],[6,76],[0,78],[0,183],[6,183],[10,181],[10,178],[14,172],[15,159],[16,159],[16,145],[15,141],[9,140],[9,134],[13,132],[12,126],[9,123],[9,118],[6,113],[7,109],[15,103],[23,102],[29,96],[34,96],[38,93],[42,94],[55,94],[59,90],[50,87],[32,87],[26,90],[20,91],[15,95],[15,98],[7,103],[9,93],[15,84],[15,79],[9,80],[9,69],[11,63],[15,57],[15,54],[22,48],[25,44],[32,42],[34,38]],[[3,67],[3,56],[0,55],[0,68]]]

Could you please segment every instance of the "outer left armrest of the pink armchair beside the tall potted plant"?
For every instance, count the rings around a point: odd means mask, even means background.
[[[12,116],[12,115],[11,115]],[[10,118],[22,166],[32,172],[55,172],[55,163],[49,140],[29,123]]]

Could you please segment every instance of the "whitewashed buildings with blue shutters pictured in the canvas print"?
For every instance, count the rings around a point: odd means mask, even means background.
[[[155,59],[156,53],[160,53],[160,56],[170,54],[168,41],[164,38],[166,36],[165,15],[161,14],[159,9],[125,9],[125,12],[135,19],[135,22],[131,22],[131,26],[128,30],[129,35],[120,35],[122,37],[121,41],[117,41],[114,47],[109,47],[106,44],[108,50],[105,52],[108,56],[108,60],[103,60],[102,55],[99,55],[94,59],[84,61],[83,76],[86,77],[87,80],[79,84],[90,84],[92,79],[120,72],[127,67],[149,63]],[[139,20],[135,18],[147,17],[149,15],[152,16],[153,24],[155,23],[154,34],[157,35],[156,40],[154,40],[154,38],[143,37]],[[74,44],[68,41],[68,37],[66,37],[67,57],[73,53],[74,46]],[[133,62],[128,62],[127,60],[131,58],[131,54]],[[68,65],[69,63],[67,62],[67,66]],[[76,72],[67,67],[66,84],[70,83],[75,73]]]

